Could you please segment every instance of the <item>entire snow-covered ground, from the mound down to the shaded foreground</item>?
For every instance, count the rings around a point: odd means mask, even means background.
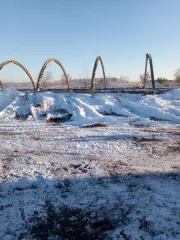
[[[0,239],[180,239],[179,124],[177,89],[1,91]]]

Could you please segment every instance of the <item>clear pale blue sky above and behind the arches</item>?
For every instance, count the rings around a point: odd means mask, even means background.
[[[0,62],[15,59],[35,78],[56,57],[73,78],[90,77],[96,56],[109,76],[136,80],[152,55],[155,76],[180,68],[180,0],[1,0]],[[51,63],[55,78],[61,70]],[[101,76],[101,70],[98,69]],[[0,79],[24,80],[17,66]]]

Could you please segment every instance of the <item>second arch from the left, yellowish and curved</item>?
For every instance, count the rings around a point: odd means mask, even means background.
[[[43,77],[43,74],[44,74],[44,70],[46,69],[47,65],[50,63],[50,62],[55,62],[57,63],[60,68],[62,69],[63,73],[64,73],[64,76],[66,78],[66,83],[67,83],[67,86],[68,86],[68,89],[70,89],[70,84],[69,84],[69,80],[68,80],[68,77],[67,77],[67,73],[66,73],[66,70],[65,68],[63,67],[62,63],[60,61],[58,61],[56,58],[49,58],[45,63],[44,65],[42,66],[41,68],[41,71],[39,73],[39,76],[38,76],[38,81],[37,81],[37,86],[36,86],[36,91],[39,90],[39,87],[40,87],[40,83],[41,83],[41,80],[42,80],[42,77]]]

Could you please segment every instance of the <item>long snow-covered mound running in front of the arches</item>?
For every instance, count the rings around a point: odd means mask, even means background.
[[[170,121],[180,123],[180,89],[164,94],[75,94],[0,92],[0,118],[55,119],[62,111],[69,118],[66,124],[85,126],[93,123],[108,125],[134,122]],[[63,119],[63,118],[62,118]],[[62,120],[63,121],[63,120]]]

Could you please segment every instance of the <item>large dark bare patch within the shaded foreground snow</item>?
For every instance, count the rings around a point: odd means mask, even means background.
[[[114,228],[113,222],[107,218],[98,219],[94,212],[67,207],[55,210],[50,201],[45,203],[45,217],[34,213],[30,219],[30,232],[38,240],[103,240]]]

